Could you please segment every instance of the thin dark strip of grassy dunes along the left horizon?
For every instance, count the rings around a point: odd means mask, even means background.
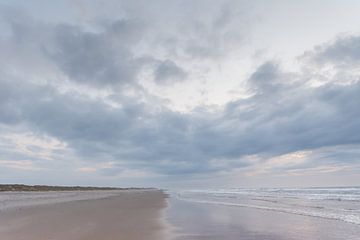
[[[25,184],[0,184],[0,192],[46,192],[46,191],[99,191],[99,190],[146,190],[154,188],[118,188],[91,186],[48,186]]]

